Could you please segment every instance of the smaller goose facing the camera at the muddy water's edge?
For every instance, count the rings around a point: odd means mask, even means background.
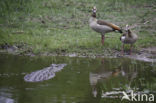
[[[128,25],[126,25],[126,29],[125,29],[123,35],[120,37],[120,40],[123,43],[122,54],[124,53],[124,44],[130,44],[131,45],[130,46],[130,55],[131,55],[132,46],[136,42],[137,39],[138,39],[138,36],[129,29]]]

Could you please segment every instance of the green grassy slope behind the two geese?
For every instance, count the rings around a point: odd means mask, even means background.
[[[21,46],[20,52],[93,53],[120,50],[119,33],[101,37],[88,26],[90,10],[121,27],[137,25],[135,49],[156,46],[155,0],[5,0],[0,1],[0,45]]]

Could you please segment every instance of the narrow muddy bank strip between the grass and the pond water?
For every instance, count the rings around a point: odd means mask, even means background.
[[[9,53],[13,55],[26,55],[26,56],[69,56],[69,57],[91,57],[91,58],[131,58],[135,60],[145,61],[145,62],[156,62],[156,47],[149,48],[141,48],[139,51],[133,51],[131,55],[129,55],[128,51],[125,51],[124,54],[121,54],[120,51],[117,50],[106,50],[104,53],[92,53],[92,52],[83,52],[82,53],[50,53],[43,52],[39,54],[34,54],[32,50],[24,50],[20,46],[10,46],[3,45],[0,48],[0,52]]]

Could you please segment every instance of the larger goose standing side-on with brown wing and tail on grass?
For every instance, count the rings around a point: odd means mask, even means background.
[[[92,9],[92,15],[89,19],[89,26],[96,32],[101,33],[101,43],[104,44],[105,39],[105,33],[113,32],[113,31],[119,31],[122,33],[122,30],[120,27],[118,27],[115,24],[108,23],[103,20],[98,20],[96,18],[96,7],[94,6]]]

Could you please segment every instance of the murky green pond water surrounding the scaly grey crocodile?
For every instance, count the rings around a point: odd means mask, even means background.
[[[43,71],[52,64],[66,65],[53,78],[24,80],[26,75]],[[121,103],[122,91],[132,90],[156,94],[155,63],[126,58],[0,54],[0,103]]]

